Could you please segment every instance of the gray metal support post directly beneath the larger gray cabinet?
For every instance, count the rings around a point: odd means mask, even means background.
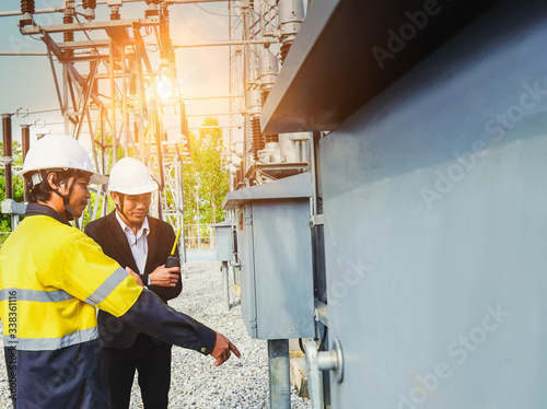
[[[289,340],[268,340],[270,408],[291,409]]]

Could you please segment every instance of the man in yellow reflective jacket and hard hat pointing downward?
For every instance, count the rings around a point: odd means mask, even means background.
[[[69,220],[81,217],[93,173],[83,145],[38,140],[23,166],[33,190],[25,219],[0,250],[0,317],[14,408],[105,409],[96,308],[216,365],[237,349],[224,336],[165,305]]]

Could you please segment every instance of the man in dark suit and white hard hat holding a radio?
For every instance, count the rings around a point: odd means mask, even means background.
[[[124,157],[110,171],[108,190],[116,210],[85,226],[103,252],[165,303],[182,291],[179,267],[165,268],[175,242],[173,227],[149,217],[158,188],[143,163]],[[147,409],[166,409],[171,344],[163,343],[103,311],[98,312],[101,358],[112,409],[129,408],[135,371]]]

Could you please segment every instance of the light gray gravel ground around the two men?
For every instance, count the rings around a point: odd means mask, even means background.
[[[170,305],[225,335],[241,351],[242,359],[232,357],[217,367],[211,357],[174,347],[170,409],[268,408],[266,341],[249,338],[233,287],[232,308],[224,311],[220,264],[190,261],[183,280],[183,293]],[[11,408],[7,385],[4,362],[0,359],[0,408]],[[142,408],[142,401],[136,382],[130,409],[138,408]],[[292,388],[291,408],[309,409],[311,405]]]

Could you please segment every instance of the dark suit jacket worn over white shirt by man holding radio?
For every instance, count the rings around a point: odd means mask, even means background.
[[[164,265],[175,243],[175,233],[173,227],[154,218],[148,218],[150,233],[148,235],[148,258],[144,267],[144,273],[141,274],[142,282],[147,285],[148,276],[155,270],[158,266]],[[104,218],[89,223],[84,233],[93,238],[102,248],[104,254],[114,258],[124,268],[129,267],[138,272],[127,237],[121,230],[117,219],[116,210]],[[165,303],[181,294],[183,289],[182,280],[178,279],[176,287],[147,285],[156,293]],[[98,335],[101,347],[126,349],[129,348],[137,337],[137,329],[113,315],[98,312]],[[154,338],[155,340],[155,338]],[[158,341],[160,342],[160,341]]]

